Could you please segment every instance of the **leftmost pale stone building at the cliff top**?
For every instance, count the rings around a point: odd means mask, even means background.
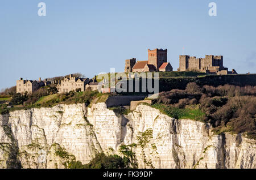
[[[16,93],[32,93],[48,84],[51,84],[51,82],[47,79],[42,81],[41,78],[39,80],[23,80],[23,78],[20,78],[16,80]]]

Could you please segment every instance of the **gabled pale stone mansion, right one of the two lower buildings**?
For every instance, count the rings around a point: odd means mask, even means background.
[[[69,91],[85,91],[85,85],[89,83],[88,78],[74,77],[72,74],[69,78],[64,78],[56,83],[56,88],[59,93],[66,93]]]

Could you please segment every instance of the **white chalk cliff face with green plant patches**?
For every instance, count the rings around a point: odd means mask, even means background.
[[[67,168],[98,152],[123,156],[121,145],[138,168],[256,168],[255,140],[142,104],[128,115],[105,103],[19,110],[0,115],[0,125],[0,168]]]

